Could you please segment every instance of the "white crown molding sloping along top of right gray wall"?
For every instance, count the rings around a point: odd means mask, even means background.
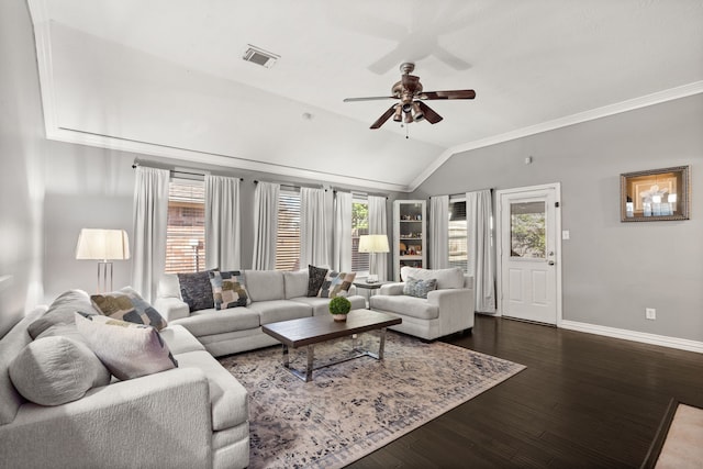
[[[683,85],[663,91],[658,91],[651,94],[646,94],[639,98],[634,98],[627,101],[604,105],[602,108],[591,109],[578,114],[567,115],[565,118],[555,119],[553,121],[543,122],[539,124],[531,125],[528,127],[517,129],[504,134],[456,145],[445,149],[432,165],[427,166],[427,168],[409,185],[409,188],[411,192],[417,189],[420,185],[422,185],[429,176],[432,176],[434,171],[439,169],[439,167],[444,165],[449,158],[451,158],[451,156],[458,153],[482,148],[503,142],[510,142],[512,139],[554,131],[556,129],[567,127],[569,125],[580,124],[582,122],[593,121],[595,119],[606,118],[609,115],[620,114],[623,112],[633,111],[635,109],[646,108],[648,105],[659,104],[701,92],[703,92],[703,80],[694,81],[689,85]]]

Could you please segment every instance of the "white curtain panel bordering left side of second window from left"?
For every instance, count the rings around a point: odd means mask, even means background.
[[[278,234],[278,197],[280,185],[258,182],[254,192],[254,253],[252,268],[272,270],[276,267]]]

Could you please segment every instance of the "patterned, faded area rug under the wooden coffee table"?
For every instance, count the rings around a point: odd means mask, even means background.
[[[378,335],[356,346],[378,350]],[[315,346],[315,366],[354,351],[350,338]],[[304,349],[291,350],[303,369]],[[389,332],[386,357],[315,370],[303,382],[269,347],[222,358],[249,392],[249,468],[339,468],[372,453],[525,367],[440,342]]]

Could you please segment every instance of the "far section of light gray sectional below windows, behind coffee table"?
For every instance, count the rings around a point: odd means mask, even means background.
[[[215,357],[276,345],[261,332],[264,324],[313,315],[328,315],[328,298],[308,297],[308,270],[242,270],[252,300],[247,306],[190,311],[183,301],[178,277],[161,278],[154,308],[169,324],[186,327]],[[365,309],[366,299],[349,287],[352,309]]]

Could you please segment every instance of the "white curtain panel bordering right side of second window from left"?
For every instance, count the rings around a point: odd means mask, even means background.
[[[300,266],[330,266],[325,190],[300,189]]]

